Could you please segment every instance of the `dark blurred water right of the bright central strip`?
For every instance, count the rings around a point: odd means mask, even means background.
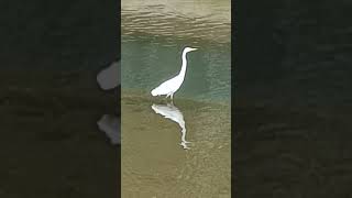
[[[349,197],[351,3],[245,8],[235,69],[237,196]]]

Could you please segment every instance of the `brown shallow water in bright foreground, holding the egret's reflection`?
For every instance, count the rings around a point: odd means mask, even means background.
[[[123,92],[121,108],[122,197],[230,197],[229,107]]]

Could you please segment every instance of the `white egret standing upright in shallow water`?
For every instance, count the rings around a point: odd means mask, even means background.
[[[177,76],[175,76],[174,78],[164,81],[158,87],[153,89],[151,91],[152,96],[166,95],[166,98],[170,97],[172,100],[174,99],[174,94],[179,89],[179,87],[183,85],[184,79],[185,79],[186,68],[187,68],[186,54],[188,52],[196,51],[196,50],[197,48],[193,48],[193,47],[185,47],[184,48],[184,52],[183,52],[183,55],[182,55],[183,65],[182,65],[179,74]]]

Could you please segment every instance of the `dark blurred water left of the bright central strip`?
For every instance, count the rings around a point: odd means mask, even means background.
[[[97,128],[117,96],[96,81],[119,54],[117,4],[0,2],[0,197],[119,194],[120,153]]]

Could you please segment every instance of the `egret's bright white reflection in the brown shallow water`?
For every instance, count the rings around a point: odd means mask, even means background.
[[[185,150],[189,150],[190,147],[187,144],[190,142],[186,141],[186,123],[183,113],[173,103],[167,103],[166,106],[154,103],[152,109],[155,111],[155,113],[162,114],[163,117],[178,123],[182,129],[180,145]]]

